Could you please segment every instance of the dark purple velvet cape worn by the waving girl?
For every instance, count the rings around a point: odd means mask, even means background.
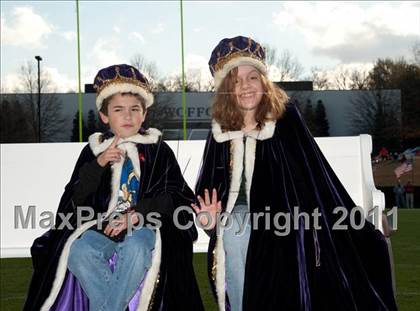
[[[271,229],[264,218],[249,240],[243,310],[396,310],[388,249],[384,236],[366,222],[361,230],[332,230],[341,213],[355,206],[307,129],[298,109],[288,104],[272,138],[257,140],[250,189],[251,213],[270,207]],[[217,143],[210,133],[196,194],[216,188],[226,207],[230,186],[230,142]],[[274,234],[277,212],[299,206],[321,213],[321,230],[303,228]],[[293,220],[292,220],[293,221]],[[251,217],[251,223],[254,226]],[[357,222],[356,222],[357,223]],[[293,224],[293,222],[292,222]],[[347,218],[343,224],[349,225]],[[350,226],[349,226],[350,227]],[[208,275],[212,279],[215,231],[210,232]],[[217,297],[217,296],[216,296]],[[226,295],[226,308],[229,309]]]

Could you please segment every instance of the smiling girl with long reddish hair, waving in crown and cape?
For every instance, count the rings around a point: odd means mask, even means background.
[[[209,61],[213,123],[192,206],[211,215],[200,221],[219,309],[396,310],[383,235],[348,218],[333,230],[333,209],[355,204],[264,58],[239,36]]]

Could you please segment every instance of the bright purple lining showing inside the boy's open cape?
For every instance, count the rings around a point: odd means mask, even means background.
[[[109,259],[109,268],[114,272],[115,264],[117,262],[117,255],[114,254]],[[147,275],[147,274],[146,274]],[[143,289],[144,282],[141,282],[133,298],[131,298],[128,309],[135,311],[139,304],[141,291]],[[79,281],[76,277],[67,270],[66,277],[64,279],[61,290],[51,307],[50,311],[88,311],[89,310],[89,299],[86,296],[83,288],[80,286]]]

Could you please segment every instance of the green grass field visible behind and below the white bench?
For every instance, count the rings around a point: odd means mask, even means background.
[[[398,211],[398,230],[392,236],[401,311],[420,307],[420,209]],[[206,255],[195,254],[194,267],[206,310],[216,310],[206,274]],[[29,258],[0,260],[0,310],[21,310],[31,276]]]

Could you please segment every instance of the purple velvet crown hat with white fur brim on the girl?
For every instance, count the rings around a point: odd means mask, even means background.
[[[252,65],[266,74],[267,67],[264,61],[264,48],[251,38],[237,36],[221,40],[209,60],[215,89],[219,88],[229,71],[240,65]]]

